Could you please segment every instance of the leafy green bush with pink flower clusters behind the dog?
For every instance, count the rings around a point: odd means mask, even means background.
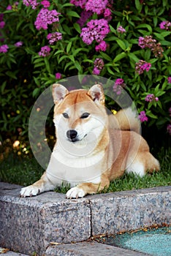
[[[115,80],[115,94],[129,93],[140,121],[170,134],[170,7],[167,0],[1,0],[1,131],[27,132],[35,97],[58,79],[94,74]]]

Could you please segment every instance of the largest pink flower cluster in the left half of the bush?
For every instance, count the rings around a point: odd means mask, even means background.
[[[36,28],[39,29],[47,29],[47,26],[57,22],[59,12],[56,10],[47,10],[46,8],[42,8],[37,15],[37,20],[35,21],[34,25]]]

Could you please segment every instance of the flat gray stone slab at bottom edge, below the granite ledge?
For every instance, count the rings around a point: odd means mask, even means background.
[[[45,256],[144,256],[147,254],[134,252],[128,249],[122,249],[106,244],[96,242],[83,242],[77,244],[66,244],[58,246],[49,246]]]

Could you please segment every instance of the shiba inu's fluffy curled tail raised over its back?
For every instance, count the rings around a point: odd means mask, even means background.
[[[132,110],[131,107],[119,110],[114,117],[114,128],[121,130],[131,130],[140,134],[140,119],[137,117],[136,111]]]

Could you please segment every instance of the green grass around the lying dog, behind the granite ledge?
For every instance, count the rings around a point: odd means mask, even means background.
[[[116,192],[131,189],[142,189],[150,187],[160,187],[171,185],[171,151],[164,150],[155,157],[159,159],[161,170],[153,174],[147,174],[140,178],[133,174],[124,174],[121,178],[115,179],[110,183],[110,187],[105,188],[102,192]],[[14,156],[9,156],[8,159],[1,162],[0,181],[13,184],[27,186],[37,181],[44,170],[39,166],[36,159],[18,159]],[[56,192],[66,193],[69,186],[57,188]]]

